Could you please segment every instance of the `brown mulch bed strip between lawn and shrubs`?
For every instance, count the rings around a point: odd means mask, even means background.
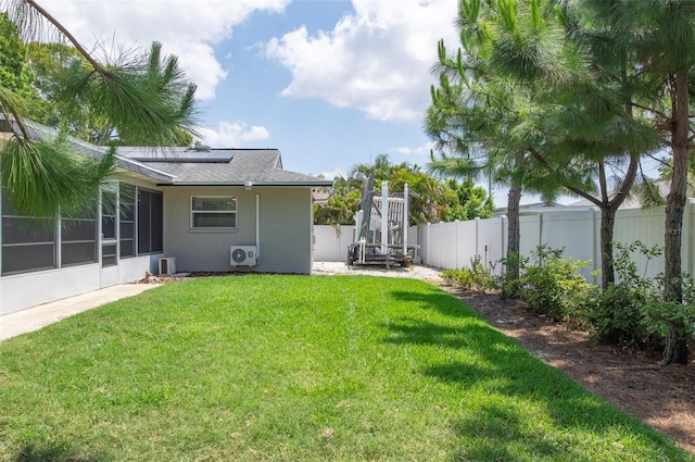
[[[599,345],[529,311],[520,300],[497,295],[444,290],[460,298],[525,349],[564,371],[590,391],[614,403],[695,453],[695,367],[660,366],[655,354]]]

